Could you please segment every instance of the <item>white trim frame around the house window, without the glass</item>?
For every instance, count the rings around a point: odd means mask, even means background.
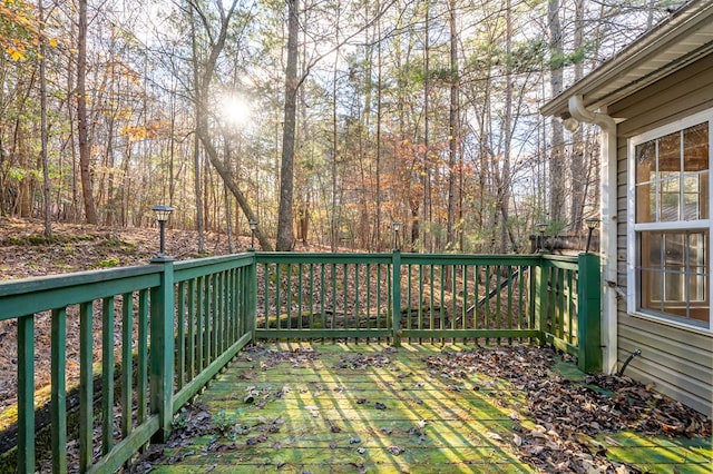
[[[657,230],[657,229],[701,229],[709,228],[711,233],[711,206],[709,204],[709,218],[703,220],[690,220],[685,223],[646,223],[635,224],[636,219],[636,160],[635,149],[636,146],[658,137],[663,137],[668,134],[683,130],[688,127],[693,127],[696,124],[709,122],[709,201],[713,194],[713,169],[711,169],[711,161],[713,161],[713,108],[703,110],[701,112],[691,115],[681,120],[667,124],[663,127],[646,131],[642,135],[637,135],[627,140],[627,189],[626,189],[626,283],[629,290],[627,292],[626,309],[629,314],[641,316],[646,319],[656,320],[658,323],[665,323],[671,326],[681,327],[687,330],[713,333],[713,317],[709,317],[709,327],[697,326],[688,324],[684,320],[676,320],[675,317],[665,317],[663,315],[655,315],[649,313],[643,313],[636,308],[636,299],[638,297],[638,280],[636,278],[636,264],[639,258],[636,249],[636,231],[637,230]],[[672,225],[673,224],[673,225]],[[713,234],[713,233],[712,233]],[[713,239],[713,235],[711,236]],[[709,249],[710,254],[711,249]],[[709,258],[709,302],[713,302],[713,265],[712,258]]]

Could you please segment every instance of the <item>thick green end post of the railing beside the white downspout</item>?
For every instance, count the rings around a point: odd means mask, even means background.
[[[602,276],[599,257],[579,254],[577,347],[582,372],[602,372]]]

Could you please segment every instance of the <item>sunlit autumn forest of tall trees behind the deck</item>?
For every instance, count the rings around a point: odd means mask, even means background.
[[[0,0],[0,215],[526,251],[597,214],[538,108],[683,0]]]

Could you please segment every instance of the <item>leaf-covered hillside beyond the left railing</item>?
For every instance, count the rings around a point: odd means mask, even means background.
[[[146,265],[156,254],[157,228],[117,228],[77,224],[52,225],[52,236],[42,235],[43,225],[32,219],[0,219],[0,282],[21,278],[99,270],[131,265]],[[197,235],[194,231],[168,229],[166,248],[176,259],[199,257]],[[235,250],[244,250],[250,239],[235,239]],[[206,234],[207,255],[229,251],[227,238]],[[71,316],[71,315],[70,315]],[[101,354],[100,324],[96,328],[95,354]],[[117,328],[120,332],[120,327]],[[120,334],[120,333],[119,333]],[[68,320],[68,377],[75,381],[79,373],[79,323]],[[36,319],[36,346],[49,347],[50,318]],[[0,322],[0,429],[6,425],[2,411],[17,402],[17,323]],[[36,352],[36,386],[46,387],[50,381],[49,350]]]

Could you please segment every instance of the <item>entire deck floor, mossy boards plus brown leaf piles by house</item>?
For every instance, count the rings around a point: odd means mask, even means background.
[[[254,346],[133,472],[711,471],[711,421],[537,347]]]

